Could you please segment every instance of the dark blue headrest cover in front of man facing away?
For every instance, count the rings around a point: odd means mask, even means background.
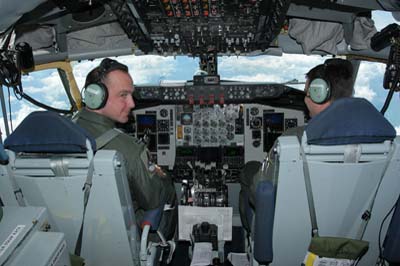
[[[363,98],[343,98],[312,118],[305,128],[307,143],[345,145],[393,140],[396,130]]]

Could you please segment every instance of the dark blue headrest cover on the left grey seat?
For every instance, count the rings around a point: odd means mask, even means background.
[[[4,147],[14,152],[84,153],[87,139],[95,151],[96,142],[86,130],[55,112],[36,111],[4,141]]]

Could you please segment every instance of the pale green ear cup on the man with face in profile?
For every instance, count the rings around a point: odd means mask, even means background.
[[[98,110],[106,105],[108,90],[101,82],[87,85],[83,94],[83,100],[89,109]]]

